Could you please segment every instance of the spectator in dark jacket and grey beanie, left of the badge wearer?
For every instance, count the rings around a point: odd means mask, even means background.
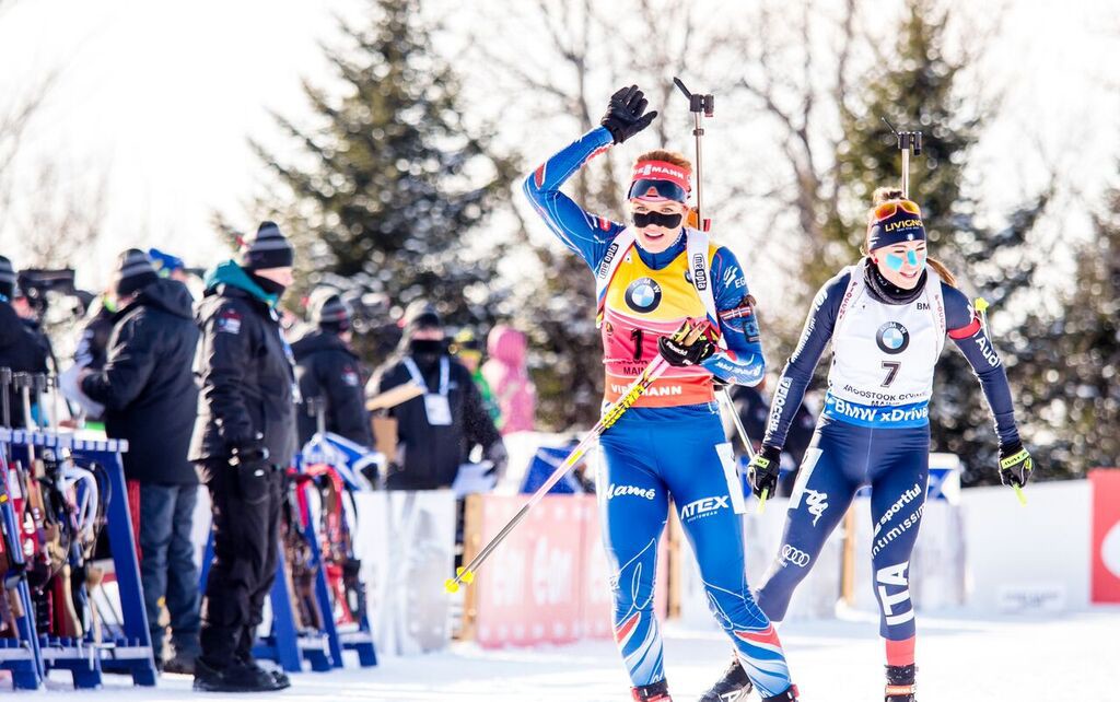
[[[323,403],[324,429],[364,447],[373,444],[365,411],[361,366],[351,347],[351,311],[338,293],[316,290],[309,303],[317,329],[291,345],[302,403],[297,411],[299,443],[317,430],[312,400]]]

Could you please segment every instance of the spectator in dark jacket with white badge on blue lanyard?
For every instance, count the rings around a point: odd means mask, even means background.
[[[398,450],[386,487],[450,487],[476,446],[501,472],[506,460],[502,438],[470,372],[448,355],[439,315],[422,301],[409,306],[400,352],[370,381],[371,394],[409,382],[426,393],[389,411],[398,422]]]

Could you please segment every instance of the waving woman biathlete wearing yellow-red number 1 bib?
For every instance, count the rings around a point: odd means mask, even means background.
[[[653,593],[672,497],[711,609],[744,667],[766,700],[796,700],[782,645],[747,586],[737,514],[743,494],[712,391],[713,375],[754,385],[765,371],[743,269],[730,251],[683,226],[691,166],[679,153],[638,157],[628,194],[633,226],[588,214],[560,191],[592,157],[645,129],[657,114],[645,107],[636,86],[618,91],[603,127],[525,180],[545,223],[596,275],[606,401],[617,400],[659,353],[671,364],[600,439],[615,638],[634,700],[669,702]]]

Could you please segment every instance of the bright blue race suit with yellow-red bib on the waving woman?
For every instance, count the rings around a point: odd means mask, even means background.
[[[550,158],[524,185],[545,223],[592,271],[608,263],[608,249],[626,225],[588,214],[560,187],[610,143],[606,129],[595,129]],[[664,322],[655,318],[657,307],[696,309],[694,291],[687,292],[692,290],[684,255],[688,236],[682,230],[678,241],[662,253],[651,254],[635,245],[632,251],[637,258],[626,254],[627,263],[615,274],[605,296],[605,347],[614,343],[613,319],[637,320],[635,324],[646,326],[615,336],[637,339],[626,350],[633,348],[633,361],[641,359],[645,365],[653,356],[643,354],[643,346],[655,348],[656,336],[668,328],[657,326]],[[712,374],[730,383],[756,384],[763,377],[765,361],[741,268],[724,247],[713,247],[710,261],[709,280],[715,288],[719,333],[726,349],[704,362],[707,385],[683,378],[685,384],[691,383],[688,392],[692,394],[674,394],[672,387],[665,386],[666,392],[648,399],[648,404],[643,404],[643,396],[600,439],[606,460],[598,494],[604,545],[613,568],[615,638],[635,686],[664,680],[653,592],[657,542],[672,497],[697,554],[712,612],[735,643],[755,684],[771,696],[790,687],[790,674],[777,635],[747,586],[743,528],[736,514],[741,490],[734,477],[730,447],[724,441],[710,386]],[[687,289],[679,284],[685,279]],[[616,317],[612,317],[613,311]],[[608,396],[613,377],[609,364],[617,361],[605,358]],[[706,401],[691,402],[701,396],[697,393],[707,393],[702,395]],[[674,403],[674,397],[685,396],[690,403]]]

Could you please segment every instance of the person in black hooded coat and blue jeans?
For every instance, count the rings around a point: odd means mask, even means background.
[[[127,439],[124,477],[139,484],[140,580],[152,653],[164,661],[165,599],[174,657],[166,668],[193,673],[198,646],[198,570],[194,526],[198,476],[187,460],[198,389],[190,364],[198,344],[194,300],[186,287],[157,277],[147,254],[130,249],[115,281],[121,303],[104,367],[87,368],[82,392],[105,406],[105,432]]]

